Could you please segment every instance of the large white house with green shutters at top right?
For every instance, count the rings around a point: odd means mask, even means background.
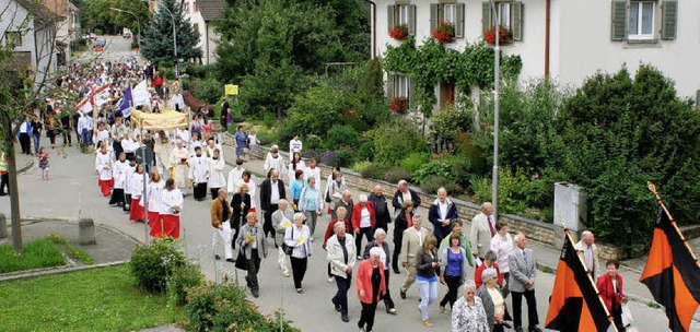
[[[436,24],[455,25],[456,40],[447,47],[463,50],[483,38],[493,25],[491,1],[375,0],[372,14],[374,54],[402,42],[388,35],[407,24],[417,46],[431,37]],[[520,55],[520,80],[548,75],[563,84],[580,85],[596,71],[617,72],[623,63],[634,72],[651,63],[676,82],[679,95],[700,98],[700,1],[698,0],[495,0],[500,23],[513,31],[514,42],[501,47]],[[410,78],[395,80],[395,95],[409,94]],[[439,105],[453,98],[436,87]],[[410,96],[408,96],[410,97]]]

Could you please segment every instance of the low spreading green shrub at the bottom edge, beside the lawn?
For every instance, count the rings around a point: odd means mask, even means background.
[[[266,317],[246,299],[245,290],[232,285],[207,284],[195,287],[187,295],[185,306],[195,331],[300,331],[279,315]]]

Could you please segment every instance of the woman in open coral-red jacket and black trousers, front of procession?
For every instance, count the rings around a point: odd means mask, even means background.
[[[358,265],[358,277],[355,286],[358,288],[358,298],[362,305],[362,313],[358,327],[360,330],[370,332],[374,327],[374,313],[380,298],[386,294],[386,284],[384,283],[384,264],[380,261],[384,249],[374,247],[370,250],[370,259],[363,260]],[[366,323],[366,329],[364,324]]]

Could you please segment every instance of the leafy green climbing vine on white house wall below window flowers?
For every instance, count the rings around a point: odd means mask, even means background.
[[[469,92],[471,86],[493,88],[493,48],[483,42],[467,45],[464,51],[458,51],[445,48],[434,38],[417,48],[416,38],[409,37],[399,47],[387,46],[384,68],[413,78],[418,107],[427,114],[438,100],[435,84],[455,83],[462,92]],[[522,69],[520,56],[501,54],[503,80],[517,79]]]

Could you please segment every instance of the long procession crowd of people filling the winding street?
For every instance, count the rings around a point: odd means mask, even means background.
[[[453,331],[525,331],[523,297],[527,304],[527,331],[541,331],[535,296],[535,253],[527,248],[523,233],[512,237],[506,223],[493,220],[490,203],[483,203],[481,213],[465,227],[464,217],[444,188],[436,191],[427,215],[417,213],[421,197],[405,180],[397,183],[393,197],[385,195],[383,186],[377,185],[372,192],[359,194],[355,202],[339,168],[334,168],[322,183],[317,161],[302,158],[299,135],[289,142],[289,162],[279,146],[271,147],[264,162],[267,176],[257,183],[243,165],[257,154],[259,141],[242,126],[230,143],[235,156],[229,156],[229,161],[235,161],[236,166],[226,175],[224,140],[214,132],[206,108],[190,111],[177,102],[175,108],[189,111],[191,124],[158,132],[141,130],[121,112],[109,112],[109,105],[115,105],[120,93],[139,80],[156,84],[152,90],[155,103],[144,107],[145,111],[162,109],[159,100],[168,96],[167,90],[178,93],[173,85],[164,90],[163,79],[150,64],[71,67],[70,73],[57,82],[60,86],[82,96],[100,81],[109,84],[112,100],[98,112],[77,112],[78,116],[63,114],[58,102],[50,104],[50,116],[30,118],[21,128],[23,152],[32,154],[26,143],[35,130],[39,135],[50,131],[47,137],[55,147],[57,124],[51,124],[52,119],[69,118],[68,127],[61,128],[63,144],[71,144],[70,123],[77,123],[79,142],[96,151],[94,171],[100,194],[109,198],[108,204],[128,213],[129,221],[148,218],[153,237],[178,238],[185,198],[191,193],[195,201],[205,201],[209,193],[212,254],[247,271],[245,281],[254,297],[260,294],[260,262],[271,247],[278,251],[280,273],[292,277],[296,293],[304,294],[308,258],[317,253],[316,239],[328,261],[328,282],[337,288],[331,303],[343,322],[350,321],[348,290],[354,283],[362,308],[358,320],[361,331],[373,330],[380,301],[388,315],[398,315],[390,295],[390,276],[401,273],[406,277],[397,287],[399,297],[407,299],[410,287],[418,285],[418,309],[425,327],[433,324],[430,308],[439,298],[440,283],[445,286],[440,311],[451,315]],[[230,114],[229,107],[223,104],[222,115]],[[70,122],[71,119],[77,121]],[[222,121],[229,124],[228,120]],[[39,139],[34,139],[34,145],[39,166],[45,169],[42,177],[48,179],[47,150],[39,145]],[[141,149],[145,158],[139,163],[137,153]],[[432,230],[423,223],[430,223]],[[389,227],[390,224],[394,225]],[[270,244],[268,236],[272,237]],[[593,234],[584,232],[576,249],[592,274],[598,274]],[[598,280],[598,289],[623,330],[620,306],[627,298],[618,266],[616,261],[606,264],[608,273]],[[509,296],[512,313],[506,305]]]

